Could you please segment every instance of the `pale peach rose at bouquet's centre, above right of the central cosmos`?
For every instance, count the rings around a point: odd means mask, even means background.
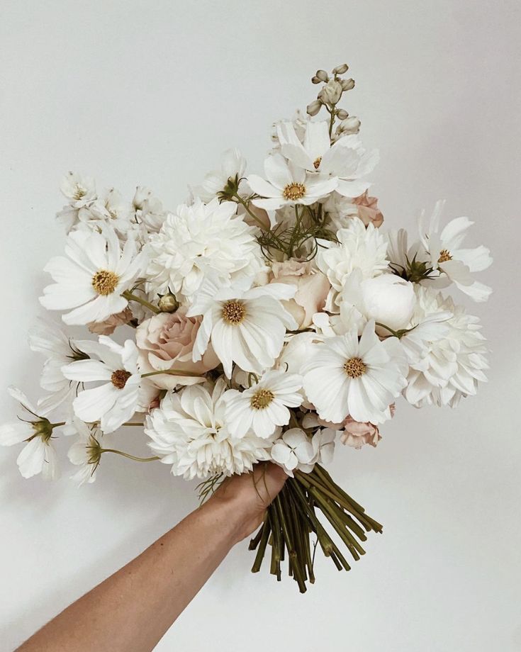
[[[297,288],[295,296],[282,301],[295,318],[298,328],[307,328],[313,322],[313,315],[323,310],[330,282],[325,274],[313,269],[313,262],[286,260],[271,264],[270,283],[287,283]]]

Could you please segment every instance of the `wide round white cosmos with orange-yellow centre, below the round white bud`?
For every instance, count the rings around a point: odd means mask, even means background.
[[[304,389],[321,419],[379,424],[389,417],[388,406],[407,381],[408,364],[396,337],[380,341],[374,321],[367,322],[358,339],[353,330],[315,344],[315,354],[304,366]]]

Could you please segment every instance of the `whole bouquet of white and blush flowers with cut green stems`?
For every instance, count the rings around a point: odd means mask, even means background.
[[[486,381],[478,318],[442,290],[486,300],[474,273],[489,251],[464,248],[468,218],[442,226],[442,202],[418,237],[383,230],[367,179],[378,154],[339,106],[347,69],[318,70],[307,112],[274,124],[264,174],[225,152],[176,210],[142,186],[126,201],[65,176],[65,253],[45,266],[40,303],[86,332],[30,332],[43,393],[33,404],[10,388],[26,416],[0,428],[0,444],[23,446],[24,478],[57,477],[60,440],[80,484],[117,454],[198,478],[202,500],[278,464],[290,477],[250,543],[252,570],[269,556],[280,580],[287,562],[301,592],[315,548],[349,570],[382,530],[327,473],[335,443],[376,446],[398,398],[454,408]],[[150,454],[124,450],[126,427],[142,427]]]

